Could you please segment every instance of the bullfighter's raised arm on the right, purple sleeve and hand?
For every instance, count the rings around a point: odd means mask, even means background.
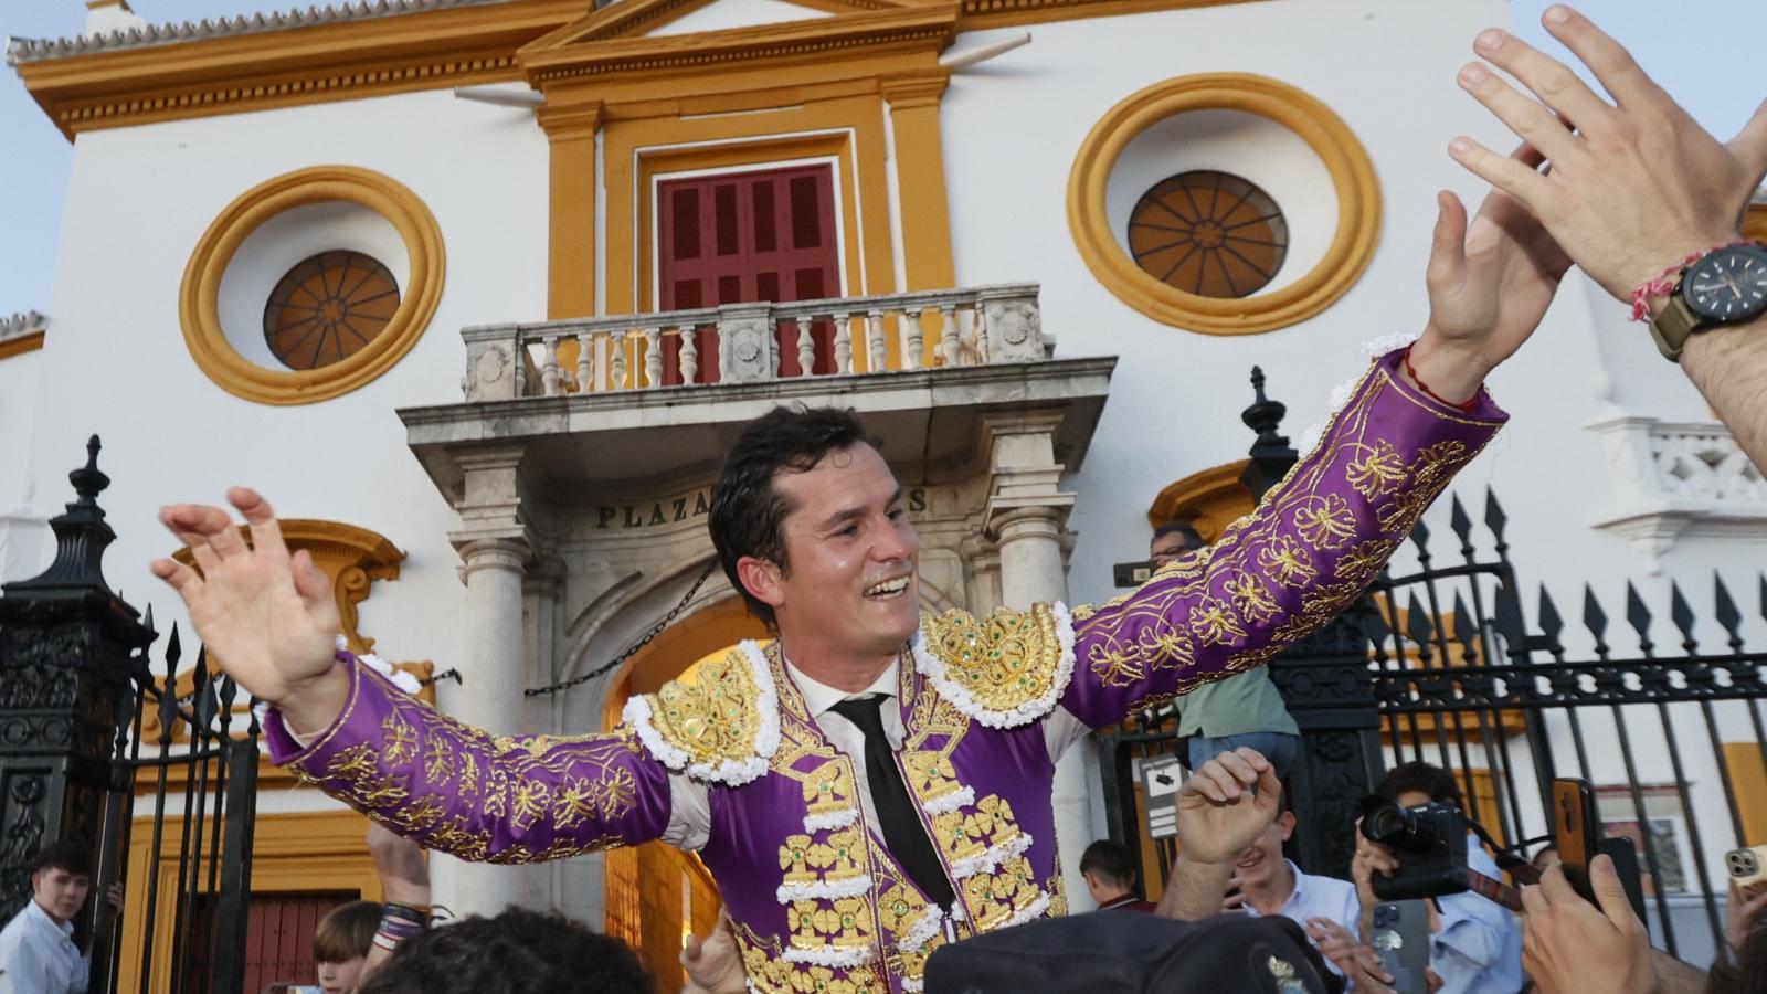
[[[1518,159],[1537,163],[1528,149]],[[1539,325],[1569,260],[1505,195],[1470,221],[1449,193],[1438,209],[1422,338],[1378,359],[1322,442],[1216,545],[1074,608],[1069,713],[1110,725],[1267,663],[1362,593],[1504,424],[1479,384]]]

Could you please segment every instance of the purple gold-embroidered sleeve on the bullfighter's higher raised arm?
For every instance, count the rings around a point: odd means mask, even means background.
[[[1267,663],[1368,587],[1460,467],[1509,419],[1470,412],[1376,359],[1318,446],[1205,552],[1101,607],[1074,608],[1062,706],[1092,727]]]

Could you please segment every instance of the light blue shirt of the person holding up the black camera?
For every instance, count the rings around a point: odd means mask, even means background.
[[[1477,837],[1467,837],[1467,867],[1502,879]],[[1442,994],[1516,994],[1521,990],[1521,921],[1502,904],[1475,893],[1437,898],[1442,930],[1430,939],[1430,969]]]

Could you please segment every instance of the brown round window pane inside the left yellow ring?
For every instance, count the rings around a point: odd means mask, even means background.
[[[325,251],[277,281],[263,308],[263,340],[290,370],[318,370],[375,341],[398,310],[399,285],[380,260]]]

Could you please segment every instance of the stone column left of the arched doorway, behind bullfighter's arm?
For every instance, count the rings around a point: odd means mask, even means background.
[[[461,458],[463,493],[456,502],[461,529],[449,539],[459,552],[466,585],[465,637],[454,667],[458,684],[436,686],[438,707],[486,732],[507,736],[527,729],[527,651],[521,585],[534,559],[534,541],[521,509],[521,449],[489,449]],[[534,906],[541,874],[523,867],[431,861],[436,902],[456,914],[497,914],[509,904]]]

